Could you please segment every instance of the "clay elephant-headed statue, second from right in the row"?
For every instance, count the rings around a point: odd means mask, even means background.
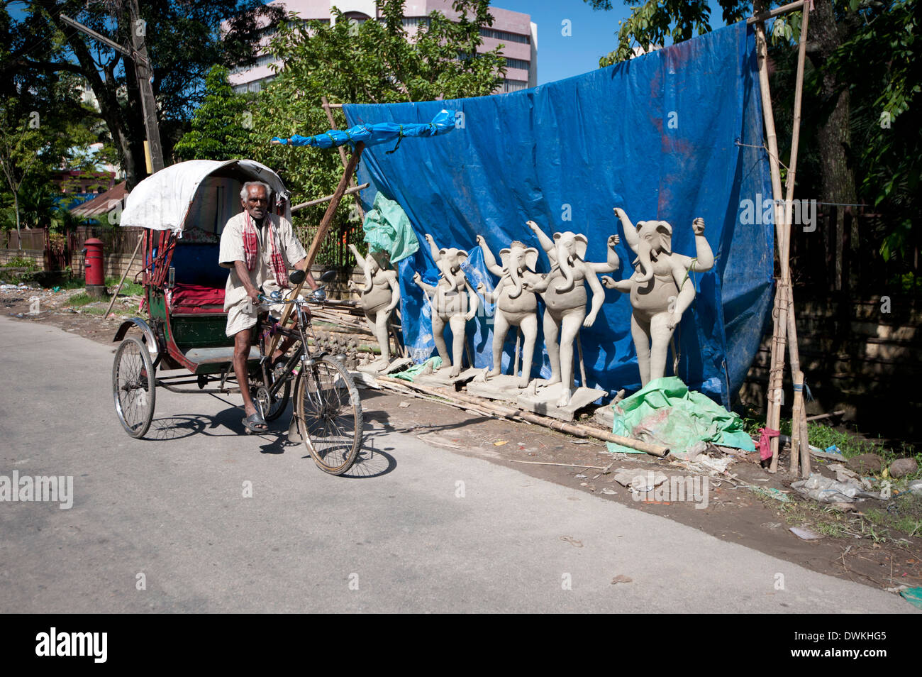
[[[551,240],[534,221],[528,221],[528,227],[538,237],[538,243],[550,260],[550,273],[538,284],[526,281],[526,289],[537,291],[545,305],[544,339],[548,346],[551,376],[544,385],[562,384],[557,406],[565,407],[573,396],[573,342],[581,327],[593,326],[605,303],[605,291],[596,274],[612,272],[621,265],[615,253],[615,245],[620,239],[617,235],[609,237],[608,260],[605,263],[591,263],[585,260],[588,245],[585,235],[555,232]],[[589,283],[592,291],[588,315],[585,310],[585,282]]]

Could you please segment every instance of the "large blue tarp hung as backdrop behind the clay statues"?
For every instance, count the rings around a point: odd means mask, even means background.
[[[634,223],[668,220],[674,251],[692,256],[691,221],[703,217],[716,264],[691,276],[698,294],[677,330],[676,375],[727,403],[758,350],[773,284],[772,224],[746,216],[772,195],[752,30],[739,23],[535,89],[344,111],[358,125],[425,121],[443,108],[456,112],[454,134],[409,138],[393,154],[369,148],[360,178],[404,208],[420,240],[429,232],[439,246],[467,249],[472,287],[496,282],[483,267],[478,233],[494,254],[512,240],[540,250],[526,227],[535,220],[549,234],[585,233],[586,259],[604,261],[617,232],[621,269],[614,277],[621,279],[632,274],[634,254],[612,208]],[[363,193],[365,200],[375,195]],[[543,253],[538,267],[549,269]],[[412,282],[414,271],[435,281],[428,247],[400,264],[405,340],[421,360],[433,354],[433,343],[429,302]],[[640,387],[631,312],[626,294],[608,290],[596,324],[582,330],[591,385]],[[490,365],[490,318],[475,317],[467,333],[476,366]],[[513,351],[511,331],[507,369]],[[546,354],[543,373],[550,373]]]

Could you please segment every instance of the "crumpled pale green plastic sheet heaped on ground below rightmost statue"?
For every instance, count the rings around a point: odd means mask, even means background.
[[[676,376],[650,381],[612,410],[615,422],[611,432],[622,437],[668,446],[675,452],[700,442],[755,451],[737,414],[689,390]],[[611,452],[641,453],[613,442],[607,444]]]

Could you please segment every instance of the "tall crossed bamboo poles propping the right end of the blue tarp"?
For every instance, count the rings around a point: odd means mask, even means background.
[[[774,130],[774,113],[772,96],[768,83],[768,44],[765,41],[765,20],[786,12],[802,10],[798,44],[798,74],[794,93],[794,122],[791,136],[791,157],[788,162],[786,194],[782,193],[781,171],[778,158],[778,141]],[[810,442],[807,434],[807,411],[803,402],[804,375],[800,371],[798,351],[798,334],[794,312],[794,294],[791,290],[791,213],[794,198],[794,180],[798,164],[798,144],[800,140],[800,106],[803,96],[804,65],[807,54],[807,28],[810,22],[810,0],[799,0],[790,5],[778,7],[747,19],[755,24],[756,50],[759,58],[759,85],[762,91],[762,115],[765,119],[765,137],[768,146],[769,167],[772,174],[772,194],[774,197],[775,236],[778,243],[778,258],[781,275],[774,294],[774,331],[772,333],[771,366],[769,370],[766,400],[768,411],[765,432],[770,438],[772,460],[769,472],[778,469],[778,434],[781,425],[781,398],[785,372],[785,346],[791,360],[791,380],[794,384],[794,402],[791,411],[791,461],[792,473],[800,469],[800,475],[810,475]],[[798,463],[799,461],[799,463]]]

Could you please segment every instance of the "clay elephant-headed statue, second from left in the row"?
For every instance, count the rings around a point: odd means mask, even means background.
[[[467,252],[463,249],[439,249],[426,234],[432,258],[439,268],[439,281],[433,287],[422,281],[420,273],[413,275],[413,281],[429,297],[432,305],[432,338],[435,339],[435,348],[442,358],[442,369],[450,370],[450,377],[455,378],[461,374],[461,362],[464,358],[465,326],[467,320],[477,312],[479,300],[477,292],[471,289],[467,282],[461,264],[467,260]],[[452,330],[452,353],[448,354],[445,345],[445,325]]]

